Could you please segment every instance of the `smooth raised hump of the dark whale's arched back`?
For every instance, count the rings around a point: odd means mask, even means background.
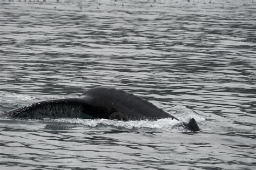
[[[142,97],[123,90],[97,87],[84,92],[81,97],[89,105],[104,107],[109,115],[118,114],[124,120],[174,118]]]

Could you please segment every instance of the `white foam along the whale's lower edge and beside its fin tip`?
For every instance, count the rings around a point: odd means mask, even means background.
[[[150,120],[131,120],[131,121],[122,121],[122,120],[109,120],[109,119],[44,119],[47,123],[60,123],[60,124],[77,124],[83,125],[89,128],[117,128],[118,130],[161,130],[161,131],[187,131],[183,122],[188,123],[191,118],[194,118],[198,123],[205,121],[204,117],[198,115],[190,108],[185,106],[174,106],[171,108],[169,114],[174,115],[179,119],[158,119],[156,121]]]

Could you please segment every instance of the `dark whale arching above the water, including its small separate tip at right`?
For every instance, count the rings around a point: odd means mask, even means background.
[[[82,118],[118,120],[177,119],[142,97],[107,87],[87,90],[75,98],[46,100],[5,112],[14,118]],[[183,123],[187,130],[199,131],[196,120]]]

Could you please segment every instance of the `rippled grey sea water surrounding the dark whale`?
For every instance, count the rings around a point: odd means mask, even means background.
[[[256,2],[213,2],[2,0],[0,112],[107,86],[201,132],[170,119],[2,117],[1,169],[255,169]]]

